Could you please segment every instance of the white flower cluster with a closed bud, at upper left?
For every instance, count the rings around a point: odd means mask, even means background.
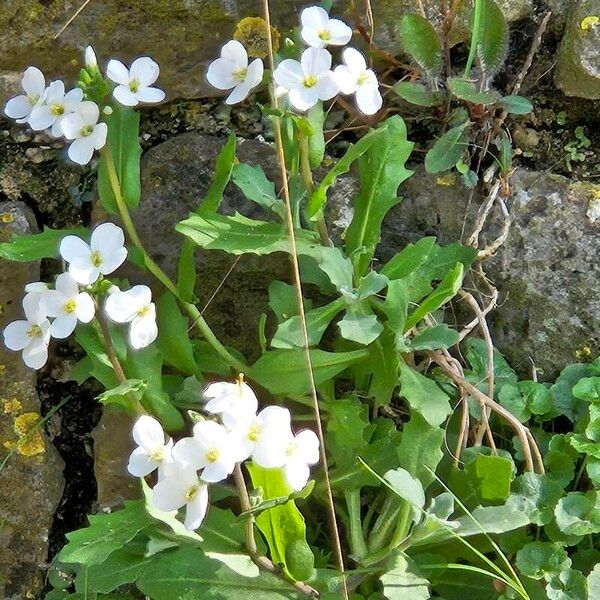
[[[91,46],[86,48],[85,62],[88,72],[100,76]],[[151,87],[158,74],[158,65],[147,56],[134,60],[130,69],[114,59],[107,67],[108,78],[117,84],[113,96],[125,106],[160,102],[165,93]],[[70,142],[69,158],[80,165],[89,163],[94,151],[104,147],[108,128],[100,122],[100,107],[86,99],[81,88],[65,92],[65,84],[60,80],[46,87],[46,78],[37,67],[25,70],[21,87],[24,93],[11,98],[4,107],[7,117],[27,123],[34,131],[47,130],[53,137],[64,137]]]

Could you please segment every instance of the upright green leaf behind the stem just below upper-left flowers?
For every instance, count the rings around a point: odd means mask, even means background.
[[[142,193],[140,181],[140,113],[115,103],[111,115],[105,117],[108,125],[107,148],[112,156],[123,200],[129,208],[137,208]],[[98,165],[98,195],[100,204],[112,214],[118,214],[117,201],[112,190],[104,156]]]

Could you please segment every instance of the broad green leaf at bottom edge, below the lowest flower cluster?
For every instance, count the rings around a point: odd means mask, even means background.
[[[199,548],[181,546],[161,552],[137,581],[153,600],[295,600],[297,594],[282,579],[261,571],[245,577],[204,554]]]

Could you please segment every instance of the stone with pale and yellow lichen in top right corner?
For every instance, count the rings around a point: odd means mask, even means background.
[[[567,96],[600,98],[600,0],[573,2],[558,52],[555,84]]]

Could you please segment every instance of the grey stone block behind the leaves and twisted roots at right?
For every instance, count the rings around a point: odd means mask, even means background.
[[[515,368],[530,373],[531,358],[549,379],[600,350],[600,300],[593,293],[600,277],[600,186],[519,169],[511,189],[510,234],[485,267],[500,291],[492,335]],[[423,235],[444,244],[464,239],[481,205],[477,196],[469,204],[452,177],[420,169],[401,192],[402,203],[386,219],[382,258]],[[497,233],[494,217],[480,246]]]

